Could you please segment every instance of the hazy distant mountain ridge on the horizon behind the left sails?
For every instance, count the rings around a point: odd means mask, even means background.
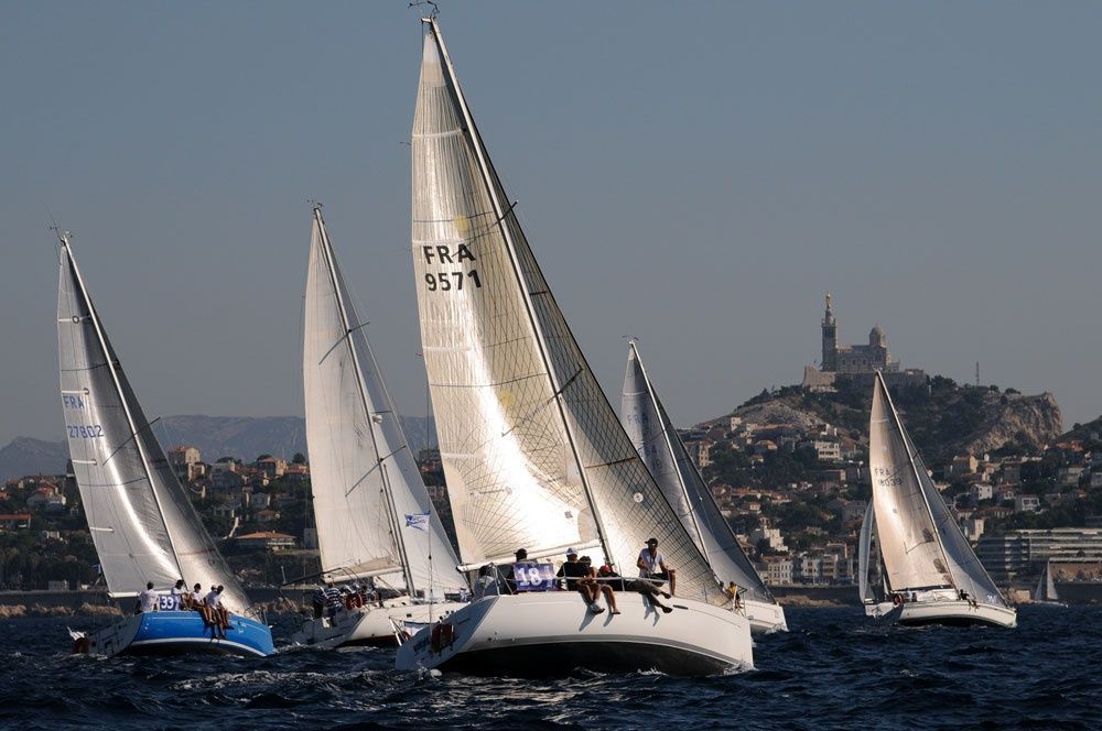
[[[402,428],[414,454],[425,445],[425,419],[403,416]],[[431,419],[432,443],[436,435]],[[186,444],[196,447],[203,460],[238,457],[251,461],[263,454],[290,459],[306,454],[306,426],[299,416],[165,416],[153,424],[153,433],[165,449]],[[60,474],[65,471],[68,447],[64,441],[17,437],[0,449],[0,479],[24,474]]]

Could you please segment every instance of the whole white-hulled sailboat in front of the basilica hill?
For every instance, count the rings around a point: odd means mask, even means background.
[[[900,624],[1015,626],[1016,612],[953,520],[879,372],[873,384],[868,441],[875,521],[868,527],[871,533],[875,525],[887,590],[887,600],[873,602],[868,613]],[[861,545],[866,570],[869,545]]]

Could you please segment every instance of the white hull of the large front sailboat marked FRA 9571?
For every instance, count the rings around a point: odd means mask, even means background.
[[[616,592],[616,602],[622,613],[612,615],[591,613],[575,591],[487,597],[413,635],[398,648],[396,667],[544,676],[575,667],[685,676],[754,667],[741,613],[674,597],[666,614],[631,591]]]

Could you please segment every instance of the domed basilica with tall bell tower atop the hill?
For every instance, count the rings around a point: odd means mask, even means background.
[[[892,360],[888,338],[879,325],[868,332],[868,345],[840,346],[838,343],[838,320],[834,318],[834,295],[827,293],[827,312],[822,319],[822,358],[819,367],[806,366],[803,388],[812,391],[830,391],[838,375],[871,378],[880,371],[885,380],[896,383],[920,383],[926,373],[920,370],[901,370],[898,360]]]

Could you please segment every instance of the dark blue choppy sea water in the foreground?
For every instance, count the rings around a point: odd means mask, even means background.
[[[20,729],[741,729],[1102,727],[1102,608],[1025,608],[1018,629],[901,629],[860,610],[790,609],[757,669],[554,681],[391,669],[392,651],[267,659],[67,654],[66,624],[0,622],[0,724]],[[283,643],[290,628],[279,628]],[[277,644],[281,643],[277,640]]]

